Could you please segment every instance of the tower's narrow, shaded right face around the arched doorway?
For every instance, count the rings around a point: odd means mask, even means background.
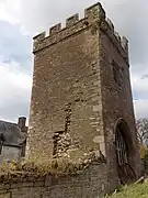
[[[105,24],[106,23],[106,24]],[[111,21],[101,24],[100,32],[100,58],[101,81],[103,99],[103,123],[106,136],[107,162],[111,177],[116,173],[115,155],[115,124],[119,118],[124,119],[129,128],[134,153],[132,154],[132,167],[137,175],[140,172],[140,158],[133,107],[133,97],[129,78],[128,42],[124,38],[123,45],[117,45],[121,37],[114,32]],[[114,79],[114,66],[117,66],[116,80]],[[128,131],[126,131],[128,133]]]

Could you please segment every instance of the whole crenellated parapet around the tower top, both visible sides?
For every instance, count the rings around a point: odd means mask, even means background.
[[[56,44],[64,38],[71,36],[84,29],[90,28],[94,23],[98,23],[98,28],[104,30],[110,35],[111,40],[117,45],[118,50],[124,57],[128,54],[128,42],[125,37],[122,37],[114,31],[114,25],[110,19],[106,19],[105,11],[101,3],[95,3],[84,10],[84,18],[79,19],[79,14],[73,14],[66,19],[66,28],[61,28],[61,23],[58,23],[49,29],[49,35],[43,32],[34,36],[33,53],[41,51],[49,45]],[[104,28],[105,26],[105,28]]]

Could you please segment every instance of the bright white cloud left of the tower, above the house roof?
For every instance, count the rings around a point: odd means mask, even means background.
[[[32,78],[23,74],[19,63],[0,63],[0,119],[14,121],[29,116]]]

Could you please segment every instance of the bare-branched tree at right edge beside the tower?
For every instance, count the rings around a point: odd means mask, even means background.
[[[139,142],[143,144],[148,139],[148,119],[143,118],[136,121],[137,135]]]

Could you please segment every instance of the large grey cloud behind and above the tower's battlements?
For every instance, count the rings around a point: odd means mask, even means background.
[[[8,14],[2,19],[14,19],[31,35],[35,35],[50,25],[64,22],[69,15],[98,2],[98,0],[11,0],[1,1],[1,10]],[[139,70],[140,64],[147,63],[148,51],[148,1],[147,0],[100,0],[107,15],[113,20],[115,29],[129,38],[133,72]],[[9,12],[8,12],[9,11]],[[11,18],[8,18],[10,15]]]

